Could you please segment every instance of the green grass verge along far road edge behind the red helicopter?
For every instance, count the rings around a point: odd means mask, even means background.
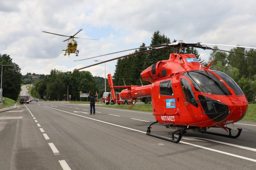
[[[87,104],[89,104],[89,102],[73,102],[73,101],[70,101],[70,103],[83,103],[83,104],[87,103]],[[123,109],[129,109],[129,107],[132,106],[132,105],[102,105],[101,103],[96,104],[96,105],[97,106],[102,106],[102,107],[123,108]],[[152,105],[150,105],[150,104],[134,105],[132,107],[132,110],[153,112]],[[249,104],[248,105],[247,114],[245,115],[243,120],[244,121],[256,122],[256,104]]]

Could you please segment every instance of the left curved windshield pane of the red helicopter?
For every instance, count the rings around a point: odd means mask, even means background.
[[[198,92],[215,94],[215,95],[231,95],[228,88],[215,75],[206,71],[189,71],[183,73],[188,77],[195,90]]]

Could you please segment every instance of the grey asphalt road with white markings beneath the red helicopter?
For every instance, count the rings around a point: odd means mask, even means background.
[[[0,170],[255,169],[256,123],[235,123],[243,129],[236,139],[188,132],[174,144],[145,134],[151,112],[89,109],[40,101],[0,113]],[[171,131],[151,129],[167,137]]]

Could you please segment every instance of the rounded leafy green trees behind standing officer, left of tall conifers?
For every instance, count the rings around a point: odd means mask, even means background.
[[[109,91],[109,87],[107,86]],[[31,95],[40,99],[62,101],[68,100],[80,101],[80,91],[88,93],[96,91],[99,98],[105,92],[105,79],[103,77],[93,77],[89,71],[62,72],[51,70],[49,75],[34,84],[31,89]],[[68,96],[67,96],[68,95]],[[81,101],[87,101],[87,98],[81,97]]]

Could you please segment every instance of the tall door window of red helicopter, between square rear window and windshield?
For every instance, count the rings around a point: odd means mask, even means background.
[[[193,93],[192,87],[190,86],[188,80],[181,78],[181,87],[182,87],[185,100],[191,105],[198,107],[198,103],[196,102],[196,97]]]

